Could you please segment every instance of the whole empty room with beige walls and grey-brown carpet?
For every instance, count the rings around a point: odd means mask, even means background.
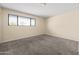
[[[0,55],[78,55],[78,3],[0,3]]]

